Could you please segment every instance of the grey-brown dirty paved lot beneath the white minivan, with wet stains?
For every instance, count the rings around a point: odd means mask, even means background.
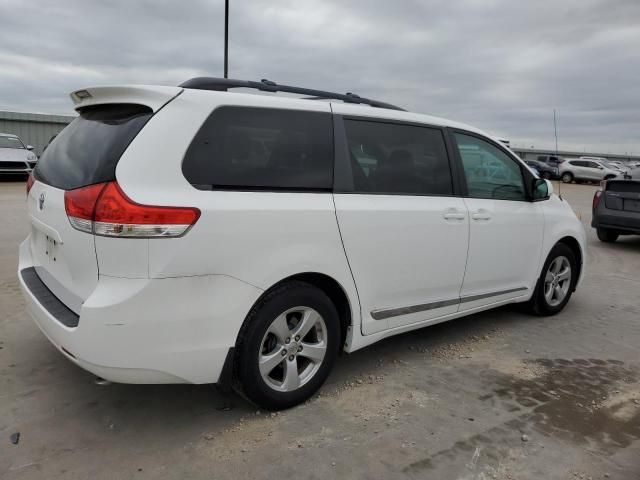
[[[63,358],[23,311],[24,184],[1,182],[0,478],[639,479],[640,237],[598,242],[594,188],[562,187],[589,237],[562,314],[389,339],[268,414],[211,386],[98,386]]]

